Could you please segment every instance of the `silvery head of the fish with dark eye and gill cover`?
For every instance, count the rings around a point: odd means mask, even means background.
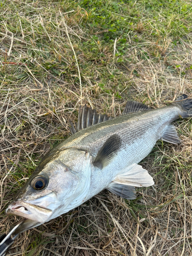
[[[90,186],[90,155],[68,148],[45,156],[19,189],[7,214],[26,218],[15,232],[45,223],[83,202]]]

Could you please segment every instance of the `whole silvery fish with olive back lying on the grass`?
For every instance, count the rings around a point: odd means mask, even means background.
[[[72,135],[42,158],[6,209],[7,214],[25,218],[15,233],[65,214],[103,189],[135,199],[135,187],[154,184],[138,163],[157,140],[179,144],[172,122],[191,116],[192,99],[185,94],[158,109],[127,101],[117,117],[80,106],[77,123],[70,121]]]

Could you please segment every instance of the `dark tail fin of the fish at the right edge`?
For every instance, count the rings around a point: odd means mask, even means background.
[[[179,96],[175,102],[183,108],[182,117],[191,117],[192,116],[192,99],[188,98],[187,95],[183,94]]]

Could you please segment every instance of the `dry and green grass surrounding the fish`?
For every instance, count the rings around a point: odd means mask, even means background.
[[[192,96],[192,5],[182,0],[0,1],[1,232],[5,209],[80,104],[118,115]],[[142,161],[155,186],[133,201],[104,190],[22,233],[8,255],[190,255],[191,127]]]

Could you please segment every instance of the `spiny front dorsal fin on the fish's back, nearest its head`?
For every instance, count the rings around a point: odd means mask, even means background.
[[[72,121],[70,120],[71,127],[69,129],[71,133],[74,134],[91,125],[101,123],[112,118],[112,116],[98,114],[95,110],[93,110],[91,107],[89,108],[87,105],[80,106],[78,121],[77,123],[75,123],[74,126]]]

